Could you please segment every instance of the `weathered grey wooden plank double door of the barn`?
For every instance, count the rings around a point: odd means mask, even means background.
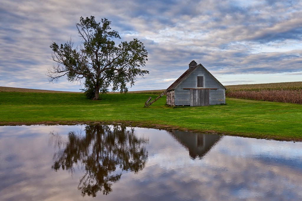
[[[190,89],[190,106],[210,105],[209,89]]]

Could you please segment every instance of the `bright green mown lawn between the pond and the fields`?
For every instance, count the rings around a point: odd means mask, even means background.
[[[92,101],[72,93],[0,93],[0,125],[124,123],[279,140],[302,141],[302,105],[227,98],[227,105],[171,108],[165,96],[105,94]],[[153,98],[157,95],[151,95]]]

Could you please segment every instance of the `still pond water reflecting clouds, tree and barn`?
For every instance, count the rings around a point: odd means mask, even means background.
[[[111,125],[0,127],[0,200],[302,200],[302,143]]]

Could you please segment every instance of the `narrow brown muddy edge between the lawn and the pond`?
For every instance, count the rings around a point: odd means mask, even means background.
[[[294,141],[302,142],[302,138],[288,138],[280,137],[274,135],[261,135],[257,133],[232,133],[232,132],[218,132],[211,130],[191,130],[187,128],[182,128],[175,125],[161,125],[161,124],[152,124],[147,122],[133,122],[133,121],[104,121],[104,122],[77,122],[77,121],[60,121],[60,122],[0,122],[0,126],[16,126],[16,125],[77,125],[77,124],[105,124],[105,125],[123,125],[128,127],[140,127],[140,128],[155,128],[161,130],[179,130],[179,131],[191,131],[198,133],[209,133],[209,134],[218,134],[218,135],[229,135],[229,136],[238,136],[244,138],[256,138],[256,139],[266,139],[266,140],[277,140],[277,141]]]

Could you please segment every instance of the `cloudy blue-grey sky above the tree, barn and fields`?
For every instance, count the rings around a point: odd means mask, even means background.
[[[222,84],[302,81],[302,2],[284,0],[2,0],[0,86],[80,91],[49,83],[50,44],[79,42],[79,18],[111,20],[144,43],[149,70],[133,90],[165,89],[195,60]]]

